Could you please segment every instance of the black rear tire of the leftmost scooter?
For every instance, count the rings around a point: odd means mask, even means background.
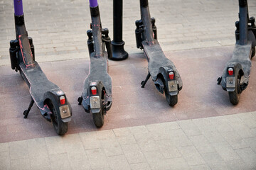
[[[64,135],[66,132],[68,132],[68,123],[63,123],[60,117],[60,111],[58,109],[58,106],[54,102],[49,101],[48,107],[52,112],[52,115],[50,116],[50,118],[52,120],[53,128],[55,132],[58,135]]]

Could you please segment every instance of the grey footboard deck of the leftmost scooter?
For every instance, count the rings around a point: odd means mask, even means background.
[[[47,91],[54,89],[60,89],[57,85],[53,84],[43,73],[39,64],[35,61],[35,64],[31,67],[26,67],[25,64],[21,63],[21,76],[29,86],[29,92],[31,97],[35,101],[39,108],[43,108],[43,95]]]

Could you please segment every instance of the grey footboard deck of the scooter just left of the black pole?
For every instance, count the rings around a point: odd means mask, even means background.
[[[91,82],[101,81],[105,87],[107,96],[112,94],[112,79],[110,74],[107,73],[107,52],[104,52],[104,57],[93,57],[95,52],[92,52],[90,57],[90,70],[84,82],[83,98],[87,98],[87,89]]]

